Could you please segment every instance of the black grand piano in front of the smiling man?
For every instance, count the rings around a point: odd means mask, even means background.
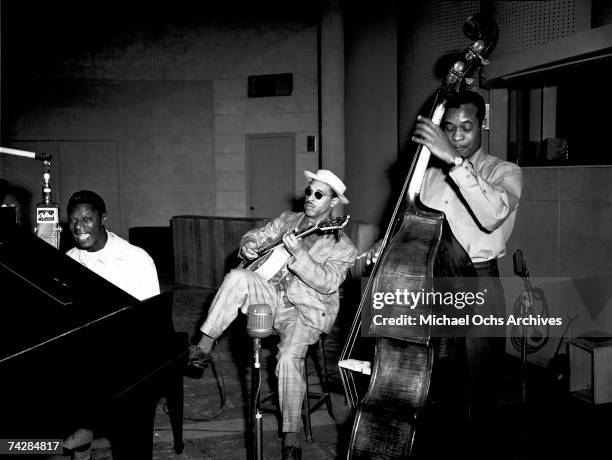
[[[151,458],[163,396],[180,453],[187,348],[172,293],[140,302],[18,225],[0,226],[0,438],[87,427],[113,458]]]

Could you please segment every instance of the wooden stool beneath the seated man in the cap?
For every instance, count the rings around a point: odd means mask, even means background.
[[[310,391],[307,365],[309,356],[315,365],[317,376],[321,384],[321,392]],[[322,358],[322,363],[320,358]],[[325,359],[325,334],[321,334],[317,343],[313,343],[308,347],[308,351],[304,357],[304,380],[306,381],[306,392],[304,394],[304,402],[302,404],[302,420],[304,423],[304,434],[306,435],[306,439],[312,441],[312,425],[310,423],[311,413],[325,403],[327,412],[329,413],[330,417],[335,420],[329,392],[327,362]],[[262,398],[260,408],[262,412],[277,413],[279,409],[276,392],[271,392]]]

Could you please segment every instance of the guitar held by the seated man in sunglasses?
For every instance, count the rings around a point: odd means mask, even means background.
[[[341,217],[328,217],[316,224],[302,230],[301,232],[296,234],[297,238],[303,238],[305,236],[310,235],[311,233],[336,233],[342,230],[346,224],[348,224],[349,218],[351,216],[341,216]],[[245,270],[250,270],[261,275],[266,281],[272,279],[274,275],[276,275],[283,266],[291,257],[289,251],[285,248],[285,244],[282,240],[277,240],[273,243],[270,243],[267,246],[264,246],[259,251],[257,251],[257,258],[252,260],[244,259],[238,265],[238,268],[244,268]]]

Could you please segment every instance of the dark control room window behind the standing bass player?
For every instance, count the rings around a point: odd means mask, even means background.
[[[610,165],[612,58],[509,86],[508,158],[521,166]]]

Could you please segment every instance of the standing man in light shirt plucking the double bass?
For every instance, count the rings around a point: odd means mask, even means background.
[[[470,90],[452,94],[440,126],[417,118],[412,140],[426,146],[440,161],[425,174],[420,199],[444,212],[455,238],[466,250],[478,275],[478,291],[486,292],[478,314],[505,317],[504,291],[497,259],[506,254],[506,242],[516,219],[523,185],[521,169],[489,155],[481,145],[485,117],[483,98]],[[368,252],[376,260],[380,245]],[[470,418],[476,436],[497,404],[505,337],[497,327],[473,327],[466,339],[469,370]]]

